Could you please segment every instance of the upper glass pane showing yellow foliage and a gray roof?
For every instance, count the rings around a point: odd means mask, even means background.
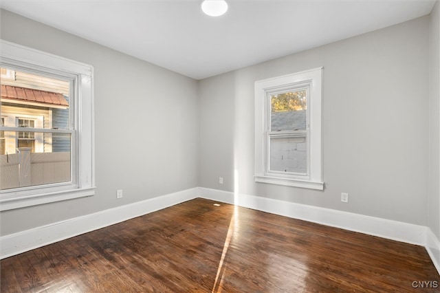
[[[270,96],[271,131],[305,130],[307,125],[307,91],[289,91]]]

